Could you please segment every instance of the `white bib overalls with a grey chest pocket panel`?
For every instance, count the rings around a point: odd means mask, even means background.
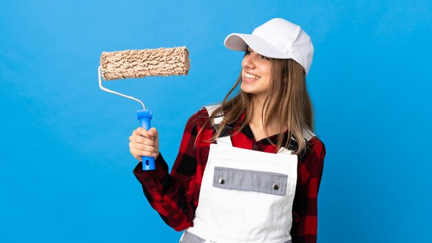
[[[217,106],[206,106],[213,113]],[[215,119],[215,123],[222,117]],[[210,144],[199,202],[181,243],[291,242],[297,155],[236,148],[230,137]]]

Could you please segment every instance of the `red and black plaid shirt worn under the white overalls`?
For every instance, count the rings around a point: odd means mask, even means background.
[[[244,122],[245,114],[238,119],[231,128],[238,130]],[[208,118],[206,109],[195,113],[186,124],[181,139],[179,153],[171,173],[161,154],[157,157],[155,171],[142,171],[141,162],[135,167],[133,173],[142,185],[144,195],[150,205],[159,213],[162,220],[176,231],[182,231],[193,226],[193,217],[198,205],[199,189],[202,176],[208,159],[210,143],[204,142],[215,134],[215,129],[204,122]],[[199,134],[197,146],[194,148],[197,133]],[[228,126],[229,128],[229,126]],[[232,135],[232,131],[222,134]],[[288,132],[286,131],[284,143]],[[277,135],[269,137],[273,143],[277,142]],[[267,139],[255,141],[251,128],[245,128],[231,136],[233,146],[259,150],[267,153],[277,153],[275,146]],[[308,141],[307,153],[298,155],[297,186],[293,202],[293,227],[291,237],[293,243],[316,242],[317,240],[317,195],[320,188],[324,156],[324,144],[317,137]],[[288,149],[297,148],[297,143],[291,140]]]

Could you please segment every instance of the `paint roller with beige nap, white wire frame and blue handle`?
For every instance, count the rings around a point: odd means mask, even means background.
[[[145,50],[124,50],[102,52],[101,66],[98,68],[99,88],[115,95],[138,101],[143,109],[137,110],[137,118],[141,127],[150,129],[152,111],[147,110],[144,103],[134,97],[123,95],[102,86],[101,76],[105,81],[148,76],[188,75],[190,68],[189,51],[186,46],[177,48],[157,48]],[[155,169],[154,157],[142,157],[144,171]]]

